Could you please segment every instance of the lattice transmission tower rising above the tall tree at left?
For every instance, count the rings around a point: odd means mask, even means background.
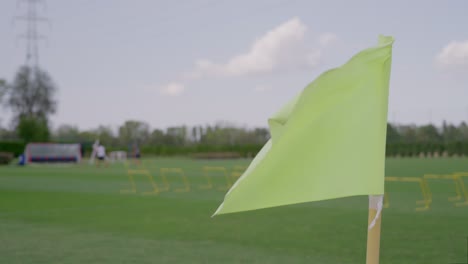
[[[15,17],[16,20],[26,22],[26,32],[19,35],[26,40],[26,65],[37,68],[39,65],[39,40],[45,39],[45,36],[39,34],[37,25],[40,22],[49,22],[45,17],[39,16],[37,5],[44,4],[43,0],[19,0],[18,4],[26,3],[26,14]]]

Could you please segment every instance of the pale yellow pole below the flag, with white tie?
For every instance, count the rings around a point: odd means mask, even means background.
[[[379,264],[383,195],[369,195],[366,264]]]

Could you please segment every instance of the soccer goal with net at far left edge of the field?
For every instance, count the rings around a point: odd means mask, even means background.
[[[24,150],[26,163],[80,162],[80,144],[29,143]]]

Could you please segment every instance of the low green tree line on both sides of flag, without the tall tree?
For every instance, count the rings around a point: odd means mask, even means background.
[[[267,128],[246,128],[228,122],[151,129],[146,122],[128,120],[117,130],[102,125],[91,130],[61,125],[44,133],[39,141],[81,143],[87,152],[94,141],[99,139],[109,151],[130,151],[136,145],[143,154],[237,152],[240,156],[252,156],[269,138]],[[0,141],[25,142],[15,130],[6,128],[0,129]],[[464,122],[458,125],[444,122],[441,127],[432,124],[416,126],[389,123],[386,152],[387,156],[468,155],[468,125]]]

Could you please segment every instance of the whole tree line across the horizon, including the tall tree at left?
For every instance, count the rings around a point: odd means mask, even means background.
[[[28,142],[81,143],[85,152],[89,152],[99,139],[108,150],[138,146],[143,154],[234,152],[252,156],[270,137],[267,128],[249,129],[228,122],[151,129],[143,121],[128,120],[117,130],[101,125],[83,131],[65,124],[51,131],[49,117],[57,108],[56,90],[52,78],[39,67],[21,66],[12,82],[0,80],[0,103],[14,114],[10,129],[0,127],[0,152],[17,155]],[[388,124],[386,155],[468,155],[468,126],[464,122],[457,125],[444,122],[441,127]]]

